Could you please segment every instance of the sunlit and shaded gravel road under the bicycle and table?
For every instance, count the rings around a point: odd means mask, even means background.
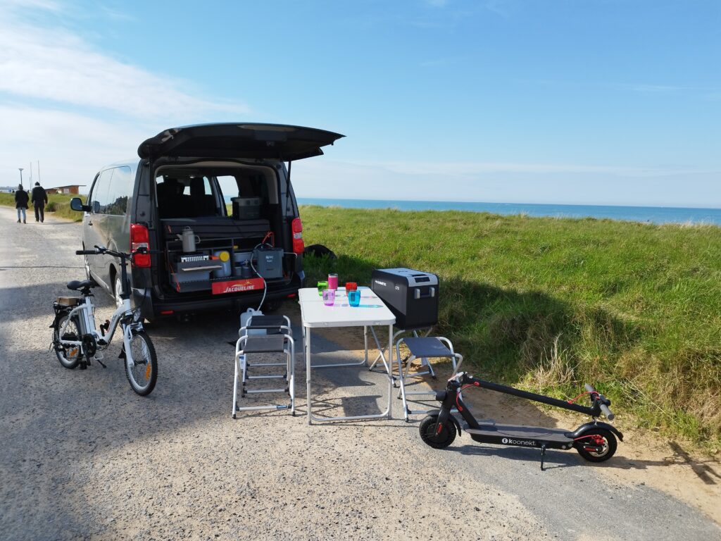
[[[721,539],[695,509],[609,481],[575,452],[548,452],[541,472],[535,449],[468,436],[430,449],[420,419],[307,426],[300,353],[298,416],[233,421],[234,315],[149,327],[159,359],[149,397],[131,391],[117,346],[107,369],[64,369],[48,325],[53,298],[84,276],[80,226],[52,215],[16,224],[14,209],[0,208],[0,230],[4,540]],[[110,298],[97,300],[105,319]],[[299,340],[297,304],[282,310]],[[319,357],[351,355],[314,336]],[[384,389],[364,369],[314,371],[330,415],[376,413]]]

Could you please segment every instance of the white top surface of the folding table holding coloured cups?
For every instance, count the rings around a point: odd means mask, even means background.
[[[298,291],[304,327],[360,327],[361,325],[393,325],[396,317],[368,287],[359,287],[361,304],[352,307],[344,288],[335,293],[335,304],[326,306],[317,288]]]

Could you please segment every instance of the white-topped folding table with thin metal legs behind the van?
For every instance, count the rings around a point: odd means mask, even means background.
[[[351,307],[348,304],[348,296],[345,289],[340,288],[336,291],[335,304],[326,306],[322,297],[318,294],[316,288],[304,288],[298,291],[298,302],[301,304],[301,319],[303,323],[303,343],[306,355],[306,386],[308,395],[308,424],[312,421],[353,421],[355,419],[379,419],[391,418],[391,401],[393,395],[393,324],[396,318],[386,305],[373,293],[368,287],[359,287],[361,291],[361,304],[358,307]],[[311,395],[311,369],[313,368],[332,368],[336,366],[360,366],[368,361],[368,327],[373,325],[388,326],[388,351],[389,351],[389,370],[388,376],[388,408],[383,413],[373,415],[353,415],[351,417],[315,417],[311,411],[312,395]],[[364,336],[366,337],[365,348],[366,355],[363,361],[358,363],[341,363],[341,364],[319,364],[311,365],[311,329],[330,328],[330,327],[363,327]],[[379,346],[379,344],[376,344]]]

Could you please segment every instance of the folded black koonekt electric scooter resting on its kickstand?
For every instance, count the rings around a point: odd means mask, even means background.
[[[501,425],[495,421],[479,423],[468,406],[464,404],[461,396],[461,393],[468,387],[483,387],[557,408],[586,413],[593,418],[593,422],[585,423],[574,431],[540,426]],[[435,399],[441,402],[441,409],[431,410],[429,415],[421,421],[420,439],[434,449],[445,449],[451,445],[456,439],[456,433],[461,433],[461,423],[454,415],[451,415],[451,409],[456,408],[466,421],[465,431],[474,441],[516,447],[539,447],[541,449],[541,470],[544,469],[546,449],[576,449],[578,454],[589,462],[604,462],[613,457],[616,452],[616,436],[621,441],[624,440],[624,436],[609,423],[597,420],[601,413],[609,421],[613,420],[614,414],[609,409],[611,400],[601,395],[589,384],[585,384],[585,389],[586,392],[576,399],[588,395],[590,407],[575,404],[573,401],[566,402],[544,395],[536,395],[534,392],[522,391],[515,387],[486,382],[466,372],[460,372],[448,379],[445,391],[435,393]]]

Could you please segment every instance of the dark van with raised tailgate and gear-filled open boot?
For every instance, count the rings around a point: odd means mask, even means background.
[[[150,320],[277,305],[304,280],[291,164],[341,137],[253,123],[165,130],[143,141],[139,161],[99,171],[84,205],[71,201],[85,213],[83,249],[152,250],[136,255],[129,284],[133,305]],[[89,255],[85,265],[117,299],[120,261]]]

